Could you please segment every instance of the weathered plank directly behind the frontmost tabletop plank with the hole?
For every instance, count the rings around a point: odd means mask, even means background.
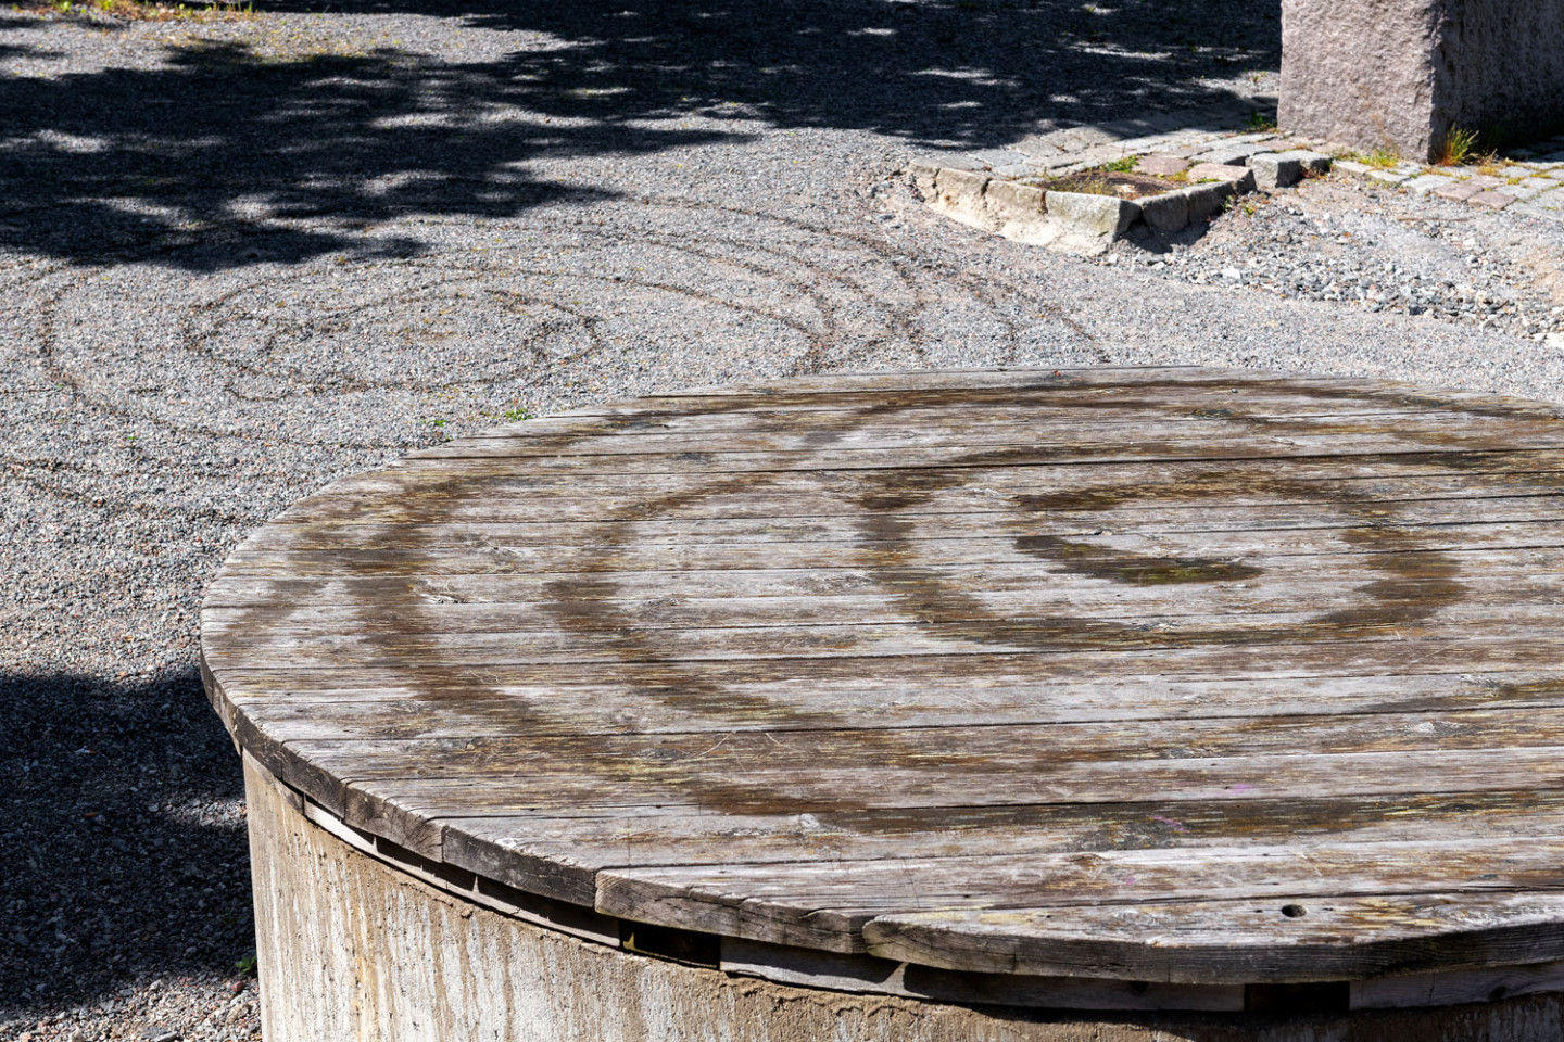
[[[1228,850],[1106,850],[1078,855],[1040,855],[1024,861],[1015,858],[948,858],[906,859],[901,862],[815,862],[787,865],[729,864],[710,869],[610,869],[597,875],[597,911],[626,915],[633,911],[643,922],[679,922],[687,928],[735,934],[771,944],[813,944],[832,951],[868,951],[863,930],[882,917],[909,917],[932,911],[942,917],[959,911],[998,909],[1062,909],[1110,908],[1154,909],[1165,903],[1195,901],[1264,901],[1259,908],[1275,909],[1268,922],[1289,919],[1281,909],[1336,906],[1340,898],[1372,898],[1397,895],[1489,894],[1511,890],[1556,890],[1564,886],[1561,870],[1564,840],[1512,839],[1480,842],[1429,844],[1342,844],[1245,847]],[[1436,867],[1444,887],[1431,887],[1429,867]],[[1536,894],[1526,898],[1537,900]],[[1415,905],[1415,901],[1414,901]],[[1106,908],[1104,908],[1106,906]],[[1544,908],[1555,908],[1545,903]],[[807,911],[805,911],[807,909]],[[1536,905],[1533,905],[1536,909]],[[1534,912],[1533,912],[1534,914]],[[1528,914],[1530,917],[1530,914]],[[1308,919],[1301,915],[1300,919]],[[1372,919],[1372,915],[1370,915]],[[1395,919],[1394,915],[1390,917]],[[1439,930],[1439,923],[1419,922],[1401,915],[1400,925],[1409,933],[1475,934],[1469,959],[1461,965],[1481,964],[1484,942],[1500,947],[1497,939],[1483,937],[1480,930],[1451,917],[1456,930]],[[1112,922],[1112,917],[1106,917]],[[917,922],[917,920],[913,920]],[[1533,920],[1536,922],[1536,920]],[[1278,930],[1286,928],[1273,923]],[[1023,948],[1032,937],[1046,936],[1056,947],[1068,939],[1068,928],[1059,933],[1017,930],[1012,944]],[[1311,931],[1312,933],[1312,931]],[[1541,934],[1541,936],[1539,936]],[[1157,945],[1146,944],[1142,933],[1140,950],[1145,965],[1131,978],[1159,962]],[[923,944],[931,944],[923,934]],[[1095,934],[1110,940],[1107,930]],[[1516,937],[1508,950],[1497,951],[1500,964],[1526,958],[1547,939],[1564,948],[1564,931],[1555,923]],[[876,936],[876,944],[877,944]],[[1353,940],[1358,940],[1353,937]],[[1038,948],[1046,942],[1038,942]],[[1431,942],[1428,962],[1448,964],[1450,955],[1437,951]],[[1361,953],[1365,945],[1345,944],[1347,951]],[[1270,958],[1282,959],[1289,948],[1273,942],[1265,948]],[[1544,959],[1553,948],[1544,950]],[[1351,956],[1337,961],[1350,976],[1358,975]],[[1062,959],[1038,958],[1037,965],[1049,972],[1068,972]],[[971,964],[968,964],[970,969]],[[1162,962],[1162,965],[1167,965]],[[1223,983],[1217,973],[1201,973],[1193,962],[1179,970],[1167,965],[1168,978],[1184,983]],[[1229,964],[1231,965],[1231,964]],[[1112,962],[1103,961],[1098,976],[1117,976]],[[1417,965],[1409,969],[1419,969]],[[1245,973],[1239,967],[1240,973]],[[1189,973],[1190,976],[1184,976]],[[1259,965],[1239,980],[1287,980],[1284,965]],[[1328,978],[1315,962],[1304,972],[1306,980]],[[1228,978],[1231,980],[1231,978]],[[1337,978],[1339,980],[1339,978]]]

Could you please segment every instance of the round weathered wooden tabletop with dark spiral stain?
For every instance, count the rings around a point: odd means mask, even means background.
[[[206,681],[347,825],[640,923],[1198,984],[1564,959],[1559,416],[1209,369],[580,409],[260,530]]]

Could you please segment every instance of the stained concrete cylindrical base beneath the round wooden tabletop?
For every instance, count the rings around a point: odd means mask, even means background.
[[[266,1042],[1542,1042],[1530,995],[1329,1017],[1049,1014],[734,976],[465,901],[311,823],[246,758]]]

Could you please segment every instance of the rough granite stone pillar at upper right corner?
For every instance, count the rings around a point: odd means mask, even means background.
[[[1436,158],[1564,125],[1564,0],[1282,0],[1284,130]]]

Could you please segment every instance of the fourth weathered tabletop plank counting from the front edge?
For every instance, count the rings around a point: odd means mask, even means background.
[[[707,739],[712,745],[719,739]],[[414,822],[438,845],[441,822],[458,817],[560,817],[580,808],[616,808],[624,817],[644,814],[812,814],[906,808],[1032,806],[1040,803],[1123,805],[1257,801],[1281,798],[1336,800],[1370,795],[1461,795],[1550,790],[1564,767],[1559,747],[1520,750],[1417,750],[1337,756],[1232,756],[1225,759],[1065,761],[1034,773],[973,772],[956,776],[943,769],[887,767],[862,762],[723,773],[716,764],[666,764],[647,758],[586,762],[576,772],[551,767],[541,756],[518,759],[510,770],[486,773],[461,765],[419,772],[404,762],[357,767],[344,744],[291,742],[263,750],[256,759],[278,776],[330,808],[355,828],[380,833],[382,822]],[[405,750],[404,750],[405,751]],[[865,753],[868,756],[870,753]],[[937,758],[931,758],[937,759]],[[967,758],[967,762],[973,762]],[[524,775],[519,772],[526,772]],[[1322,776],[1328,773],[1329,776]],[[851,797],[843,795],[851,792]],[[1181,820],[1181,819],[1175,819]],[[397,828],[404,828],[399,825]],[[1176,830],[1175,830],[1176,831]],[[396,842],[413,847],[400,836]],[[802,859],[802,856],[801,856]],[[1429,865],[1437,875],[1437,865]]]

